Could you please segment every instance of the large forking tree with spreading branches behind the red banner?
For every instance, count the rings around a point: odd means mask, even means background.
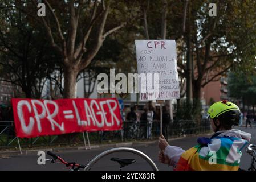
[[[105,38],[132,19],[133,1],[44,0],[46,17],[36,16],[38,2],[15,7],[31,15],[31,21],[40,23],[47,32],[52,48],[62,56],[64,98],[74,98],[78,74],[88,67]]]

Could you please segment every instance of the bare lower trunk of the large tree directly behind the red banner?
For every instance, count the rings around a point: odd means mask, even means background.
[[[76,98],[76,77],[78,69],[67,65],[64,67],[64,98]]]

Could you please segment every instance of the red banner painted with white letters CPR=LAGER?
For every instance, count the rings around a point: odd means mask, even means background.
[[[116,98],[36,100],[12,98],[17,137],[120,130]]]

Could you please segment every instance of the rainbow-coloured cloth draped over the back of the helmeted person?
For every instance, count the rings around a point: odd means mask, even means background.
[[[235,129],[219,131],[211,138],[198,138],[198,145],[181,154],[174,170],[237,171],[241,150],[250,139],[251,134]]]

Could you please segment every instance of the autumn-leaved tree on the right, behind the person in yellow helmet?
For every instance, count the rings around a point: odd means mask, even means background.
[[[144,26],[145,32],[148,31],[150,39],[160,39],[165,1],[142,2],[141,26]],[[181,82],[181,88],[188,90],[192,87],[192,115],[200,115],[202,87],[220,80],[230,69],[248,72],[255,67],[256,1],[188,0],[167,3],[166,39],[175,39],[177,42],[180,80],[186,78],[187,83],[190,79],[192,82],[186,87]],[[209,3],[216,3],[216,17],[208,14]],[[188,94],[187,98],[192,100]]]

